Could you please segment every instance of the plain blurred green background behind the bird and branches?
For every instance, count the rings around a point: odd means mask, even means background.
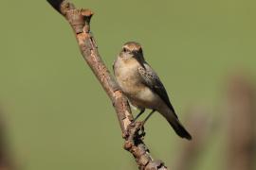
[[[72,2],[95,12],[91,28],[110,69],[124,42],[142,44],[182,122],[193,103],[219,105],[234,70],[255,76],[253,0]],[[45,0],[2,0],[1,7],[0,110],[14,159],[27,170],[136,169],[112,104],[64,18]],[[146,130],[153,156],[172,167],[187,141],[158,114]],[[209,141],[195,169],[221,166],[221,135]]]

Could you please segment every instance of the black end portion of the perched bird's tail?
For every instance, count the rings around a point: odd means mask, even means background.
[[[181,125],[178,119],[173,119],[168,121],[170,125],[174,128],[174,131],[181,138],[186,138],[187,140],[192,140],[192,135]]]

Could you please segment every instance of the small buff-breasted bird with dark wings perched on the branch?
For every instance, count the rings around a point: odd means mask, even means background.
[[[122,46],[113,70],[121,91],[128,97],[130,104],[140,110],[135,120],[145,109],[151,109],[144,120],[146,122],[156,110],[166,118],[178,136],[192,139],[179,122],[160,78],[145,61],[139,43],[126,42]]]

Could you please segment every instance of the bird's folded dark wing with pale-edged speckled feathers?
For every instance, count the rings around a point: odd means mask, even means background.
[[[160,78],[155,74],[155,71],[147,64],[144,63],[145,68],[138,67],[138,73],[144,80],[144,84],[149,87],[152,91],[157,93],[160,98],[165,102],[165,104],[174,112],[174,115],[177,117],[172,106],[169,96],[160,80]]]

